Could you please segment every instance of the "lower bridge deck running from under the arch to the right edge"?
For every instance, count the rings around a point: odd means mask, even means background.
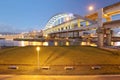
[[[59,26],[56,26],[56,27],[59,27]],[[51,32],[51,34],[66,33],[66,32],[68,33],[68,32],[75,32],[75,31],[88,31],[88,30],[97,29],[97,28],[98,28],[98,24],[96,23],[96,24],[89,25],[89,26],[81,26],[81,27],[76,26],[73,29],[65,29],[65,30],[62,30],[62,31],[54,31],[54,32]],[[120,20],[104,22],[103,23],[103,28],[105,28],[105,29],[120,28]]]

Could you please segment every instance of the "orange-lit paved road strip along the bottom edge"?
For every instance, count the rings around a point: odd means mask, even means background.
[[[120,80],[120,75],[0,75],[0,80]]]

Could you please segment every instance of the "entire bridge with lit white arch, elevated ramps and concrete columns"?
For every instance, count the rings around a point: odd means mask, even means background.
[[[120,2],[106,6],[82,17],[71,13],[57,14],[52,17],[44,30],[44,36],[52,38],[79,38],[85,31],[95,31],[98,37],[98,46],[110,45],[112,41],[112,29],[120,28],[120,19],[112,20],[112,16],[120,14]],[[106,21],[103,22],[103,19]],[[90,34],[88,34],[90,35]],[[87,35],[87,36],[88,36]],[[115,40],[119,40],[118,38]]]

